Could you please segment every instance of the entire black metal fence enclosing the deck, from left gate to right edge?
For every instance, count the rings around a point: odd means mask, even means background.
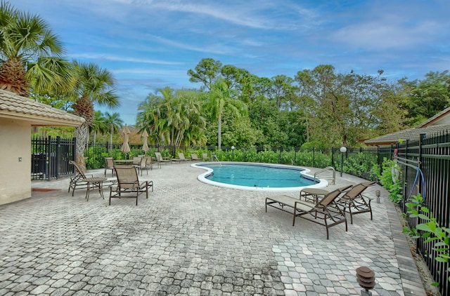
[[[191,154],[208,156],[215,154],[220,161],[245,161],[257,163],[283,163],[296,166],[325,168],[333,166],[335,170],[366,180],[378,180],[383,159],[396,157],[401,172],[401,194],[404,198],[399,206],[406,213],[406,202],[411,195],[420,192],[425,196],[425,204],[430,208],[433,217],[441,227],[449,227],[450,217],[450,135],[421,135],[418,141],[406,141],[390,147],[348,148],[345,153],[339,148],[301,149],[281,147],[172,147],[149,145],[148,152],[143,152],[142,144],[130,144],[131,152],[120,151],[122,143],[96,142],[89,143],[85,149],[86,168],[104,168],[107,156],[114,159],[131,159],[137,155],[151,155],[161,152],[163,156],[176,157],[183,152],[186,157]],[[68,161],[75,159],[75,139],[34,139],[32,140],[32,177],[50,180],[73,173]],[[415,227],[423,222],[418,218],[410,219],[409,224]],[[425,243],[418,239],[417,249],[423,255],[428,267],[440,283],[442,295],[448,295],[450,276],[446,271],[448,262],[435,260],[435,243]]]

